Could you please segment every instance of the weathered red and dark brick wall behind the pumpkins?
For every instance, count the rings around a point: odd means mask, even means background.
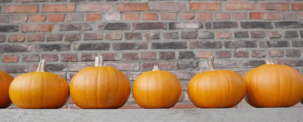
[[[303,1],[0,0],[0,70],[45,70],[68,81],[95,56],[130,82],[154,65],[181,81],[175,108],[193,107],[189,79],[217,69],[240,75],[274,58],[303,67]],[[297,106],[302,106],[298,104]],[[250,107],[242,101],[235,107]],[[14,105],[11,108],[15,108]],[[64,108],[77,108],[70,100]],[[139,108],[133,98],[123,108]]]

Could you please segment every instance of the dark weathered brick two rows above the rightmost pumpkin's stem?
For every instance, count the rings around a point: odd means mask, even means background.
[[[260,41],[260,48],[289,47],[288,41]]]

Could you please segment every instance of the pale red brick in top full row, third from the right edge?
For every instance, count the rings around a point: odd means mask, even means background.
[[[255,3],[225,3],[225,10],[252,11],[256,10]]]

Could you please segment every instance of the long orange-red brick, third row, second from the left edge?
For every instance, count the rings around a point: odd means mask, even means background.
[[[52,32],[55,28],[54,24],[36,24],[36,25],[22,25],[22,32]]]

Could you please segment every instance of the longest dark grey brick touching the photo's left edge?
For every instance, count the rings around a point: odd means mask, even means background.
[[[0,45],[0,53],[30,52],[29,44]]]

